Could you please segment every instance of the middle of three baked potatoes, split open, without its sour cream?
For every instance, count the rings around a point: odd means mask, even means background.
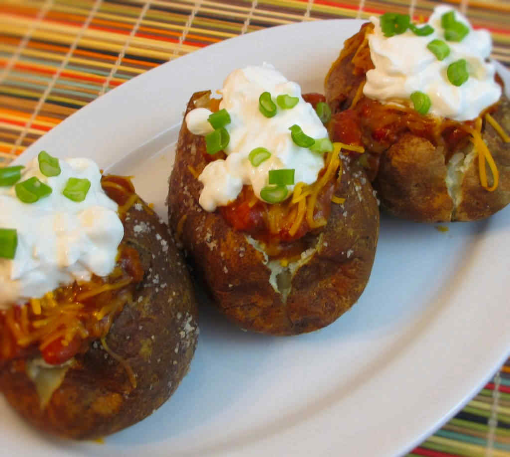
[[[218,100],[210,95],[193,94],[186,113],[217,110]],[[271,209],[253,199],[249,186],[216,211],[200,206],[197,177],[215,159],[204,137],[192,134],[184,121],[169,179],[169,223],[212,302],[243,329],[271,335],[311,332],[335,321],[360,297],[374,261],[379,216],[363,169],[341,157],[339,171],[318,196],[327,223],[285,239],[289,223],[272,243],[263,230],[250,231],[261,220],[250,209]]]

